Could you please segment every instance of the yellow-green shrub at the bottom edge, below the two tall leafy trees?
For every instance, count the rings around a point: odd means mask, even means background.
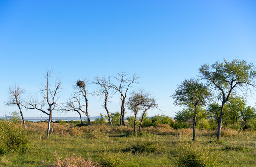
[[[219,167],[216,154],[197,143],[181,143],[175,163],[178,167]]]

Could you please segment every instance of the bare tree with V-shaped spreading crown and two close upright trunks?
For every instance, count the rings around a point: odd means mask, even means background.
[[[119,121],[120,125],[125,125],[124,123],[125,100],[127,97],[128,89],[131,86],[131,84],[138,83],[138,79],[139,79],[139,77],[136,74],[133,74],[132,78],[126,78],[127,75],[128,74],[124,72],[117,73],[117,75],[112,78],[115,78],[118,81],[118,84],[114,84],[110,82],[108,83],[108,85],[115,90],[115,93],[116,92],[120,93],[120,100],[121,100],[121,116]]]

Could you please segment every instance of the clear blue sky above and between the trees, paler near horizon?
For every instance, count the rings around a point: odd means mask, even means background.
[[[181,107],[169,96],[201,64],[256,62],[256,1],[0,0],[0,58],[0,116],[18,110],[4,105],[9,86],[18,83],[25,99],[35,96],[51,67],[62,78],[63,103],[77,79],[126,71],[141,76],[131,90],[153,93],[163,114],[174,116]],[[90,116],[105,113],[98,97],[88,103]],[[109,110],[120,111],[118,97]]]

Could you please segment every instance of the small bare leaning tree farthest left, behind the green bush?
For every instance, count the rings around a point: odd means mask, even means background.
[[[26,129],[26,123],[25,123],[24,116],[23,116],[23,113],[22,113],[22,110],[21,110],[23,102],[20,100],[20,95],[22,95],[24,93],[24,91],[25,90],[20,89],[18,84],[15,84],[15,86],[10,87],[9,91],[8,91],[8,94],[10,96],[9,96],[9,99],[5,102],[5,104],[7,106],[14,106],[14,105],[18,106],[18,108],[20,110],[20,115],[21,115],[21,118],[22,118],[22,121],[23,121],[23,128],[25,130]]]

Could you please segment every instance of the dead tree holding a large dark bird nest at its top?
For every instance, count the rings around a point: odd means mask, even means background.
[[[86,83],[88,83],[87,78],[85,78],[83,81],[78,80],[78,81],[76,82],[76,86],[75,86],[76,92],[74,93],[73,98],[76,97],[75,100],[76,100],[77,103],[79,104],[79,110],[80,110],[81,112],[83,112],[83,113],[87,116],[87,124],[88,124],[88,125],[91,125],[90,116],[89,116],[89,114],[88,114],[88,99],[87,99],[88,90],[86,89],[86,86],[87,86]],[[79,98],[79,96],[82,96],[82,97],[83,97],[83,99],[84,99],[84,101],[85,101],[85,105],[81,105],[82,100]],[[82,109],[84,106],[85,106],[85,110]]]

